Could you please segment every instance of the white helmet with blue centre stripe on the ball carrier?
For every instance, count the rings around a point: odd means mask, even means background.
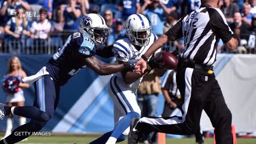
[[[138,46],[147,45],[151,36],[151,26],[142,14],[132,14],[125,21],[126,36]]]

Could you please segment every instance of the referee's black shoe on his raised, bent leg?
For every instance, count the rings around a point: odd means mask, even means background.
[[[139,122],[139,118],[133,118],[132,123],[130,125],[130,133],[128,135],[128,144],[137,144],[141,137],[141,133],[139,130],[135,129],[135,126]]]

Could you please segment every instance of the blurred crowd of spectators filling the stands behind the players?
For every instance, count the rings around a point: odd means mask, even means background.
[[[200,5],[200,0],[0,0],[0,52],[54,53],[87,13],[105,19],[107,45],[125,36],[125,19],[134,13],[145,15],[152,32],[159,36]],[[256,0],[220,0],[220,9],[230,28],[241,36],[235,53],[254,53]],[[163,49],[182,51],[183,47],[183,39],[179,39]],[[230,53],[221,41],[218,52]]]

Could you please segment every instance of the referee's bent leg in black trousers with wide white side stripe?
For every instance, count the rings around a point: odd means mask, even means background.
[[[134,131],[129,134],[129,143],[136,143],[142,133],[151,131],[179,135],[195,134],[214,78],[201,69],[179,69],[177,85],[183,96],[182,117],[143,117],[137,123],[133,122],[131,129]]]

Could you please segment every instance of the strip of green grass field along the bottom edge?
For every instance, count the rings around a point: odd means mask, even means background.
[[[49,137],[29,137],[28,141],[22,141],[19,143],[29,143],[29,144],[41,144],[41,143],[62,143],[62,144],[86,144],[98,137],[91,136],[71,136],[71,135],[61,135],[61,136],[49,136]],[[213,139],[205,139],[207,144],[213,144]],[[122,144],[127,143],[127,141],[121,142]],[[170,144],[193,144],[195,143],[194,138],[182,138],[182,139],[166,139],[166,143]],[[256,138],[252,139],[237,139],[237,144],[256,144]]]

